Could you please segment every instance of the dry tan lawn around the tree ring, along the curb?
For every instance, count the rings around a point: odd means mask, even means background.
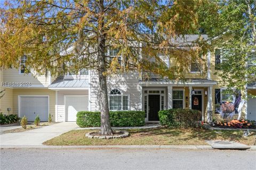
[[[94,130],[95,131],[95,130]],[[207,145],[205,140],[232,140],[253,145],[255,132],[243,137],[243,131],[205,129],[135,129],[127,130],[130,136],[123,139],[89,139],[93,130],[73,130],[45,141],[44,145]]]

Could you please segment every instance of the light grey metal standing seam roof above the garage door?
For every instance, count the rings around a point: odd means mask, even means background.
[[[63,79],[57,78],[54,80],[49,88],[88,88],[89,80],[88,79]]]

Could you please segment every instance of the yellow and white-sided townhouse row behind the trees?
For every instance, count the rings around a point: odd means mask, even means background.
[[[189,38],[193,40],[197,36]],[[113,50],[109,54],[115,55],[116,52]],[[220,117],[220,114],[214,113],[215,104],[230,98],[223,93],[225,88],[218,86],[220,77],[214,75],[215,64],[222,62],[223,58],[218,49],[209,51],[204,57],[207,72],[202,74],[197,64],[193,63],[186,74],[186,82],[163,79],[157,75],[144,79],[138,72],[110,76],[110,110],[145,111],[145,120],[149,122],[159,121],[158,111],[169,108],[197,109],[202,112],[201,120],[204,121],[209,121],[212,111],[213,117]],[[52,78],[50,74],[33,77],[23,73],[26,58],[22,58],[20,65],[18,70],[1,70],[1,90],[5,89],[5,95],[1,99],[0,112],[18,114],[19,117],[26,115],[28,121],[34,121],[36,115],[41,121],[47,121],[50,113],[53,121],[63,122],[76,121],[78,111],[99,111],[98,77],[94,71],[82,70],[78,75],[68,73],[58,78]],[[256,95],[256,82],[248,84],[248,94]],[[237,117],[238,114],[234,114],[228,119]],[[256,98],[249,95],[241,118],[256,120]]]

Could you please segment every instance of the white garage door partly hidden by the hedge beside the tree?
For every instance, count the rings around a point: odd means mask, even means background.
[[[79,111],[88,111],[88,96],[65,96],[66,121],[76,121]]]

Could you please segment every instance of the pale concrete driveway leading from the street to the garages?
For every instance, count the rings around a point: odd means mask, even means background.
[[[42,145],[46,140],[78,128],[76,122],[61,122],[43,128],[18,133],[0,135],[0,144],[3,145]]]

